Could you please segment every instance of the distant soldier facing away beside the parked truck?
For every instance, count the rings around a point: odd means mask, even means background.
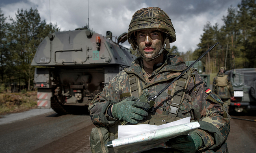
[[[213,93],[217,94],[224,102],[223,106],[227,110],[231,103],[230,99],[234,99],[234,89],[230,82],[230,77],[226,75],[225,68],[221,67],[219,73],[213,79]]]

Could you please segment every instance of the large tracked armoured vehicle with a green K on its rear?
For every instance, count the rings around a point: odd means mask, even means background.
[[[31,63],[37,66],[37,106],[59,114],[70,113],[72,106],[87,106],[136,58],[119,45],[127,40],[126,35],[121,34],[114,42],[112,32],[102,36],[86,27],[48,34]]]

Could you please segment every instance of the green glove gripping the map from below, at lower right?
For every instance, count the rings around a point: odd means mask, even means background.
[[[169,139],[165,144],[183,153],[195,153],[203,145],[203,140],[196,132],[190,132],[187,136],[177,136]]]

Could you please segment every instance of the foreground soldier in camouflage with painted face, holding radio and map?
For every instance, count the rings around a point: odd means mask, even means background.
[[[91,119],[98,127],[91,132],[92,152],[97,152],[97,149],[108,152],[102,144],[117,138],[121,120],[132,124],[161,125],[184,117],[198,121],[199,129],[146,152],[228,152],[225,140],[230,131],[230,116],[222,109],[223,102],[210,91],[195,69],[187,71],[160,94],[148,112],[143,108],[149,108],[149,104],[135,102],[143,89],[148,89],[148,93],[154,96],[187,68],[181,57],[167,56],[164,48],[165,44],[169,48],[169,43],[176,40],[169,16],[158,7],[136,11],[127,38],[140,57],[130,68],[119,72],[89,104]],[[96,136],[98,132],[102,139]]]

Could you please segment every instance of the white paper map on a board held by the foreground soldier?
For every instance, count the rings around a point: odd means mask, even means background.
[[[122,125],[118,139],[112,141],[110,153],[139,153],[155,147],[176,136],[188,134],[200,127],[198,122],[190,122],[190,117],[163,125]]]

